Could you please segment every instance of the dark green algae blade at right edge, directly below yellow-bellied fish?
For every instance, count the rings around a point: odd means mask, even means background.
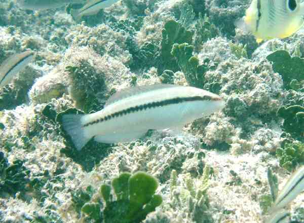
[[[278,72],[284,83],[284,88],[299,90],[304,84],[304,59],[291,57],[285,50],[278,50],[266,57],[273,62],[273,70]]]

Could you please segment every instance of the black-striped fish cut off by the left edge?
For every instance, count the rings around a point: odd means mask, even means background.
[[[0,88],[8,85],[13,78],[33,59],[32,51],[17,53],[6,59],[0,66]]]

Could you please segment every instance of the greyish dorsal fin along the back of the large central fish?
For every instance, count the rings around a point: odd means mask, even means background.
[[[104,106],[108,106],[109,104],[112,104],[116,101],[119,101],[127,97],[131,97],[133,95],[141,94],[148,91],[158,90],[158,89],[172,88],[172,87],[178,87],[178,86],[169,85],[169,84],[155,84],[155,85],[144,85],[144,86],[136,86],[132,88],[123,89],[110,96]]]

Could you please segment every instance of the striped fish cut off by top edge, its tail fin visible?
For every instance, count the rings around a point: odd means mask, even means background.
[[[101,9],[110,7],[119,0],[91,0],[83,8],[71,9],[71,15],[76,21],[80,21],[83,16],[96,15]]]

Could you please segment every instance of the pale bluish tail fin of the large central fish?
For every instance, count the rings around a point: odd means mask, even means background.
[[[63,115],[62,127],[69,134],[77,150],[81,150],[91,139],[86,137],[81,118],[85,115]]]

